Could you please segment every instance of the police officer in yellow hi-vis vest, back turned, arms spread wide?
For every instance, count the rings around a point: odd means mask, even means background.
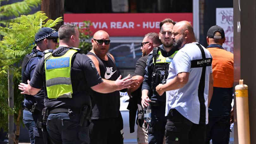
[[[45,86],[43,113],[48,115],[47,131],[53,143],[90,143],[91,89],[109,93],[130,87],[132,79],[103,81],[90,58],[76,48],[79,32],[75,24],[62,25],[58,36],[59,47],[44,51],[31,81],[21,83],[20,88],[33,95]]]

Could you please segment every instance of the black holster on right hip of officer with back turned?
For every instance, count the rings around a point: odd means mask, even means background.
[[[89,126],[91,123],[91,114],[92,114],[92,108],[90,105],[82,105],[80,113],[79,113],[79,120],[78,125],[82,126],[83,123],[85,123],[85,126]]]

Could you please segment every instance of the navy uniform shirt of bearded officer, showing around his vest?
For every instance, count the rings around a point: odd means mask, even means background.
[[[169,52],[166,52],[165,49],[163,48],[163,45],[161,45],[159,48],[160,48],[159,51],[162,52],[162,56],[164,56],[164,57],[170,57],[175,52],[174,49],[172,49]],[[144,80],[143,80],[143,83],[142,83],[142,90],[143,89],[147,89],[149,92],[151,92],[152,73],[153,73],[153,70],[154,70],[153,69],[153,65],[154,65],[154,63],[153,63],[153,55],[152,55],[152,53],[150,53],[149,54],[148,63],[147,63],[147,67],[145,69]],[[151,100],[154,100],[154,101],[165,102],[166,101],[166,93],[164,92],[162,96],[159,96],[159,94],[156,93],[156,92],[150,93],[149,94],[149,98]]]

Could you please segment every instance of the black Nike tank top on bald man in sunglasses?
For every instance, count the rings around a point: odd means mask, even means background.
[[[91,52],[87,55],[94,55]],[[96,55],[94,55],[96,56]],[[96,56],[97,57],[97,56]],[[119,74],[112,57],[107,54],[108,60],[99,59],[101,77],[107,80],[115,81],[117,80]],[[92,100],[92,119],[102,119],[102,118],[113,118],[119,116],[120,109],[120,93],[115,91],[113,93],[98,93],[93,91]]]

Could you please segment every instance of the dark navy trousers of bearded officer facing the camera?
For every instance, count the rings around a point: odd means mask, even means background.
[[[165,134],[165,125],[167,117],[165,117],[165,105],[164,106],[151,106],[151,124],[149,129],[153,128],[153,131],[149,130],[149,144],[162,144]]]

